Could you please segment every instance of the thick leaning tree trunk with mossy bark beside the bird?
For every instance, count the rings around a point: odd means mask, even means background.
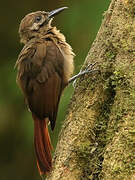
[[[135,0],[112,0],[77,81],[47,180],[135,179]]]

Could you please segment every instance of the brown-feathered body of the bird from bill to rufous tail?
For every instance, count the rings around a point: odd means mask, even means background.
[[[32,112],[40,175],[49,173],[52,167],[48,121],[53,130],[61,93],[73,73],[72,48],[64,35],[51,26],[52,17],[64,9],[28,14],[19,28],[25,46],[16,62],[17,84]]]

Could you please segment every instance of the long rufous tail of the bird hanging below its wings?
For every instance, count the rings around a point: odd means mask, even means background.
[[[40,175],[48,174],[52,168],[52,145],[48,132],[48,119],[39,119],[32,114],[34,119],[34,146],[37,158],[37,167]]]

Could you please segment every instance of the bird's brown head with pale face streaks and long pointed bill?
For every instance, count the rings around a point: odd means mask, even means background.
[[[27,14],[21,21],[19,35],[22,43],[28,42],[39,34],[46,33],[51,27],[53,17],[62,12],[67,7],[55,9],[50,12],[36,11]]]

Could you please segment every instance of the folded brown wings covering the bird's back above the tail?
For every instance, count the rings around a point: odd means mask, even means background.
[[[63,90],[64,57],[52,41],[37,44],[31,53],[24,54],[30,56],[20,55],[17,82],[30,110],[40,119],[48,117],[54,129]]]

